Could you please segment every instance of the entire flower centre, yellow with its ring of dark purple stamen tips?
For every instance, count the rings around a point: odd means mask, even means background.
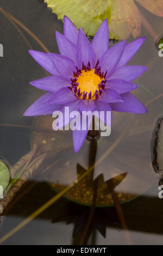
[[[105,75],[101,69],[95,67],[91,69],[83,65],[83,69],[77,69],[74,78],[71,79],[72,88],[70,88],[79,99],[96,100],[103,92],[105,87]]]

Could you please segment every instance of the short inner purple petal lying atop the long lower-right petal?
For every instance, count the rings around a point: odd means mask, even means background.
[[[99,102],[109,103],[109,102],[122,102],[122,98],[120,94],[118,94],[113,89],[104,89],[104,92],[102,92],[101,96],[97,100]]]

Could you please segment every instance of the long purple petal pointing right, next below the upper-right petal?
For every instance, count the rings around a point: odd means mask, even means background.
[[[122,66],[116,69],[108,80],[122,79],[131,82],[146,72],[147,69],[146,66]]]

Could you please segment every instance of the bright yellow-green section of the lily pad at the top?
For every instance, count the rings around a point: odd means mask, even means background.
[[[63,21],[68,16],[79,29],[82,27],[86,35],[94,36],[104,19],[111,19],[111,0],[46,0],[47,6]],[[118,39],[111,31],[110,38]]]

